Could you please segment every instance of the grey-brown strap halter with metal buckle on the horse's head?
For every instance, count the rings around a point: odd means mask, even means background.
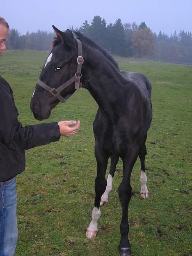
[[[80,78],[82,76],[81,74],[81,67],[82,64],[84,62],[84,59],[82,57],[82,43],[79,39],[75,39],[78,43],[78,58],[77,58],[77,72],[75,73],[75,75],[70,78],[68,81],[66,81],[64,84],[62,84],[61,86],[59,86],[57,89],[55,88],[51,88],[48,85],[46,85],[45,83],[43,83],[41,80],[37,80],[37,84],[40,85],[41,87],[43,87],[44,89],[46,89],[47,91],[49,91],[53,96],[55,96],[56,98],[58,98],[59,101],[61,101],[62,103],[65,102],[66,100],[61,96],[61,92],[68,87],[69,85],[71,85],[74,81],[75,81],[75,89],[79,89],[80,87],[82,87],[82,82],[80,82]]]

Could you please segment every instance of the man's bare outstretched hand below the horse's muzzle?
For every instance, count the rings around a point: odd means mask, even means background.
[[[80,121],[60,121],[58,124],[62,136],[73,136],[80,128]]]

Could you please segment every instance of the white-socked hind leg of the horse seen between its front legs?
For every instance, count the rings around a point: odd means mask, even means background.
[[[108,194],[112,191],[112,182],[113,182],[115,167],[118,161],[119,161],[119,157],[111,156],[111,166],[110,166],[110,172],[107,178],[107,187],[104,194],[101,197],[100,206],[103,206],[108,203]]]

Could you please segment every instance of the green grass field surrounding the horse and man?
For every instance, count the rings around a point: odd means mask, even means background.
[[[10,52],[0,57],[0,75],[11,85],[23,125],[39,123],[30,98],[48,53]],[[190,256],[192,182],[192,66],[162,62],[119,64],[144,73],[152,84],[153,122],[147,139],[150,198],[140,198],[140,165],[132,174],[135,195],[129,206],[132,256]],[[80,119],[74,137],[26,151],[26,170],[17,178],[16,256],[117,256],[121,205],[117,165],[109,203],[101,208],[99,233],[85,238],[94,204],[94,136],[97,104],[80,89],[55,107],[48,121]],[[107,171],[108,175],[108,171]]]

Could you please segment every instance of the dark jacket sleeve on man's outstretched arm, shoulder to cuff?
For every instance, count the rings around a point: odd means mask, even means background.
[[[9,149],[23,151],[60,138],[57,122],[23,127],[18,121],[18,110],[11,87],[0,77],[0,140]]]

